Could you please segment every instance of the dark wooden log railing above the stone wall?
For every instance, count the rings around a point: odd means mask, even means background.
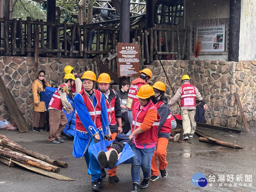
[[[66,33],[71,39],[67,42]],[[156,51],[162,59],[186,59],[189,55],[189,29],[153,27],[142,30],[130,28],[131,42],[140,45],[141,63],[157,59]],[[9,56],[64,56],[112,57],[116,53],[119,28],[99,25],[79,25],[78,23],[51,23],[42,20],[12,20],[0,18],[0,54]],[[67,43],[70,42],[68,49]],[[164,49],[164,50],[163,50]],[[116,70],[116,62],[107,63]]]

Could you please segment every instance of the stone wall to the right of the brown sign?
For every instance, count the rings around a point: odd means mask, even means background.
[[[181,76],[188,74],[191,84],[201,92],[208,105],[205,111],[206,123],[227,127],[244,127],[236,104],[234,92],[237,92],[249,126],[256,126],[256,61],[216,61],[216,60],[163,60],[165,71],[174,92],[181,85]],[[168,84],[160,62],[151,65],[153,79]],[[168,98],[172,94],[166,86]],[[180,113],[177,104],[171,107],[172,113]]]

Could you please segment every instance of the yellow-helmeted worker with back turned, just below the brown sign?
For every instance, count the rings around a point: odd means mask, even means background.
[[[140,72],[139,77],[131,81],[131,85],[130,85],[128,96],[127,96],[126,107],[128,109],[127,112],[128,112],[128,119],[130,122],[130,126],[132,124],[132,109],[133,109],[134,103],[138,101],[138,98],[136,97],[138,89],[143,84],[148,84],[150,82],[150,79],[152,78],[152,71],[149,68],[144,68],[139,72]]]

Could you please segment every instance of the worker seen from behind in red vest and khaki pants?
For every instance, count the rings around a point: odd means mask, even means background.
[[[199,100],[203,104],[204,110],[208,108],[198,89],[189,83],[190,78],[187,74],[184,74],[181,78],[182,85],[177,89],[174,96],[169,100],[169,105],[173,105],[178,99],[180,99],[180,108],[182,116],[182,139],[188,139],[193,137],[193,133],[196,128],[196,122],[194,120],[196,102]]]

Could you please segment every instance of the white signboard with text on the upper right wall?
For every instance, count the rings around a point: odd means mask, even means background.
[[[196,42],[200,52],[220,52],[225,50],[225,25],[197,26]]]

